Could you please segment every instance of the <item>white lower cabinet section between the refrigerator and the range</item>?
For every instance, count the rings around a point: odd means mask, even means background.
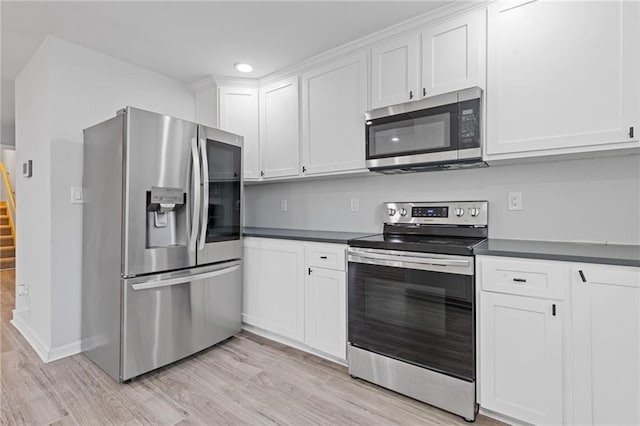
[[[345,253],[340,244],[245,238],[243,323],[344,362]]]

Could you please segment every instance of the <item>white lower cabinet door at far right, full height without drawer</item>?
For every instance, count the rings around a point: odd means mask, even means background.
[[[573,276],[574,423],[638,425],[640,269],[581,265]]]

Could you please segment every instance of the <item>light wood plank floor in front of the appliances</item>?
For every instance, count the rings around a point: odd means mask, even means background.
[[[0,281],[2,424],[467,424],[245,332],[125,385],[82,355],[44,364],[9,323],[13,271]],[[476,424],[498,422],[480,416]]]

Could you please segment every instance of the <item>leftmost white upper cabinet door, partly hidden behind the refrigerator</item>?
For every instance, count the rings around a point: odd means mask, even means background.
[[[258,89],[220,87],[218,100],[220,128],[244,137],[242,147],[244,179],[259,179]]]

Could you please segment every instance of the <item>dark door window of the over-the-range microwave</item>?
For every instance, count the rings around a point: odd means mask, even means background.
[[[457,117],[453,104],[372,120],[367,159],[457,150]]]

